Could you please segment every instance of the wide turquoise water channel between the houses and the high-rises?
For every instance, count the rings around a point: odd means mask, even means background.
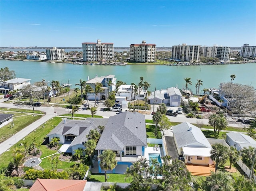
[[[185,85],[184,78],[190,77],[192,85],[189,88],[195,93],[196,79],[202,79],[204,88],[218,88],[221,82],[230,82],[230,75],[235,74],[233,83],[251,85],[256,88],[256,63],[233,64],[233,65],[206,65],[206,66],[162,66],[162,65],[73,65],[70,63],[47,63],[33,61],[8,61],[0,60],[0,67],[9,67],[16,71],[16,77],[36,81],[57,80],[60,83],[73,84],[74,88],[79,80],[87,81],[87,77],[115,75],[117,80],[126,84],[138,84],[140,77],[151,84],[150,91],[178,87],[182,89]]]

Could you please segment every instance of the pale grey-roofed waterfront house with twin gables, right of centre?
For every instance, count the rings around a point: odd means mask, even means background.
[[[149,96],[150,104],[164,103],[169,106],[180,106],[182,94],[176,87],[170,87],[168,89],[156,90]]]

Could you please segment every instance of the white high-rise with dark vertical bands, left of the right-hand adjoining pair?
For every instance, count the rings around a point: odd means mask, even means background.
[[[172,58],[182,61],[199,61],[199,52],[201,45],[175,45],[172,46]]]

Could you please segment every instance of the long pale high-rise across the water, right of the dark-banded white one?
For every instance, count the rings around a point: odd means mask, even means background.
[[[218,58],[220,61],[228,61],[230,47],[227,46],[203,46],[200,47],[200,56],[208,58]]]

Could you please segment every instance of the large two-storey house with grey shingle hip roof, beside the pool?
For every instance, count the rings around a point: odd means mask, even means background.
[[[132,162],[143,158],[146,146],[145,116],[138,112],[126,111],[110,116],[95,150],[98,150],[98,156],[104,150],[112,150],[116,153],[118,165],[112,171],[116,173],[116,169],[124,167],[125,171],[132,165]],[[100,164],[100,160],[98,164]],[[100,172],[102,171],[99,165]]]

